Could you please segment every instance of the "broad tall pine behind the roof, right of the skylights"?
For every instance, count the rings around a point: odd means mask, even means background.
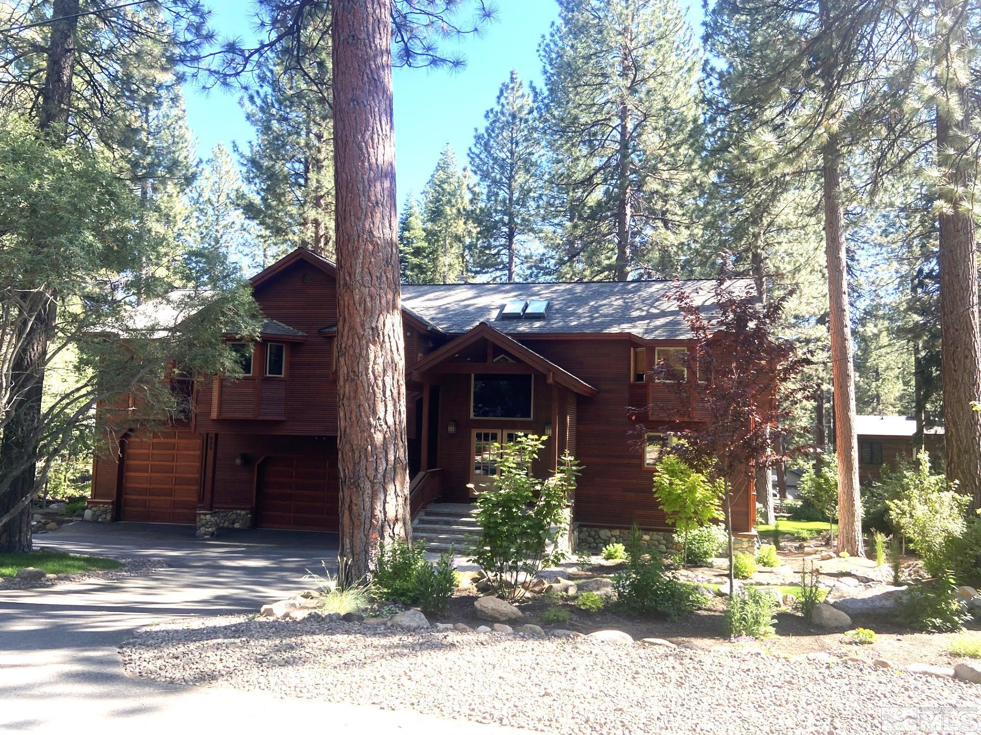
[[[684,12],[674,0],[561,0],[541,56],[552,218],[566,230],[551,243],[555,270],[675,270],[699,114]]]

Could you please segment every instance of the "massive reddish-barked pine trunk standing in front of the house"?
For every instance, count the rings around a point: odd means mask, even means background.
[[[389,0],[334,3],[340,555],[356,579],[411,533]]]

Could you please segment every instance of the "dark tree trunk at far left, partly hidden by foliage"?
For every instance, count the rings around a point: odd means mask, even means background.
[[[68,139],[78,1],[55,0],[51,10],[53,19],[63,20],[51,24],[37,125],[50,136],[54,145],[64,145]],[[12,366],[14,385],[22,389],[19,399],[12,406],[11,417],[4,427],[3,441],[0,443],[0,471],[5,473],[36,453],[44,365],[47,362],[48,340],[57,317],[55,295],[49,289],[41,287],[29,297],[25,296],[26,314],[17,328],[20,347]],[[0,497],[0,515],[6,515],[25,504],[34,492],[36,471],[35,463],[29,462],[17,473],[7,492]],[[30,551],[30,546],[30,504],[26,503],[20,513],[0,527],[0,552]]]

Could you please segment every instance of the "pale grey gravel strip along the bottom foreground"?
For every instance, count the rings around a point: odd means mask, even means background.
[[[860,735],[881,732],[891,708],[966,708],[981,729],[981,686],[749,651],[221,617],[143,629],[120,653],[159,681],[547,733]]]

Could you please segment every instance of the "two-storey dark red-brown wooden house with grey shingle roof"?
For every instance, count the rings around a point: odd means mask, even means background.
[[[116,520],[336,531],[336,280],[296,250],[251,280],[267,317],[240,349],[245,376],[199,378],[187,423],[134,434],[95,462],[91,515]],[[698,294],[711,281],[681,282]],[[707,416],[681,358],[690,331],[676,281],[403,286],[413,515],[490,487],[495,443],[548,437],[536,472],[565,452],[583,466],[584,537],[637,522],[666,529],[651,491],[659,433]],[[230,340],[234,342],[234,340]],[[657,361],[682,382],[653,380]],[[659,406],[646,409],[629,407]],[[639,425],[647,429],[637,436]],[[733,527],[751,539],[749,475],[732,478]]]

